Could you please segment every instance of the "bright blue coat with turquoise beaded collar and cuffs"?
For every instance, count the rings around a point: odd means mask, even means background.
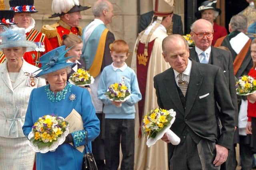
[[[25,123],[22,127],[26,137],[28,137],[28,134],[32,130],[32,126],[39,117],[54,113],[65,118],[69,115],[72,109],[75,109],[82,116],[84,129],[88,132],[89,141],[94,140],[99,135],[99,120],[96,117],[95,109],[92,105],[88,90],[73,86],[69,83],[67,83],[66,87],[69,88],[65,88],[67,93],[64,95],[64,99],[61,99],[58,102],[56,102],[57,98],[53,98],[55,101],[52,102],[47,97],[46,89],[49,89],[49,85],[32,90]],[[70,100],[71,94],[76,96],[74,101]],[[77,138],[77,136],[74,137],[74,135],[75,132],[72,133],[74,146],[78,147],[84,145],[85,137],[82,135]],[[89,142],[89,145],[91,145],[91,142]],[[36,153],[36,169],[81,170],[82,159],[83,153],[70,144],[62,144],[54,152]]]

